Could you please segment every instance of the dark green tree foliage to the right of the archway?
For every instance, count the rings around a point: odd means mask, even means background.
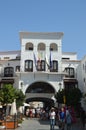
[[[82,93],[79,88],[71,88],[70,90],[62,89],[61,91],[59,90],[55,98],[58,103],[63,104],[64,103],[64,96],[66,100],[66,105],[71,105],[76,107],[82,98]]]

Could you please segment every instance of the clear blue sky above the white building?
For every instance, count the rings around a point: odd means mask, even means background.
[[[20,31],[64,32],[63,52],[86,55],[86,0],[0,0],[0,51],[20,50]]]

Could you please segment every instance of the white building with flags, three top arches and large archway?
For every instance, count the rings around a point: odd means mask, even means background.
[[[59,89],[78,86],[82,80],[81,61],[75,52],[62,51],[62,32],[20,32],[19,35],[20,51],[0,52],[0,85],[12,83],[26,94],[26,102],[45,104],[53,104]]]

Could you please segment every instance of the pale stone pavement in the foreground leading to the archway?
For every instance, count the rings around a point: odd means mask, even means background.
[[[25,119],[22,125],[16,128],[16,130],[50,130],[49,120],[43,121],[37,118]],[[55,130],[59,130],[57,125],[55,126]],[[74,124],[72,130],[83,130],[81,123]]]

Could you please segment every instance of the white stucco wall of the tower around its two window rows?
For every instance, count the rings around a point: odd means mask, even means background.
[[[33,51],[25,50],[25,45],[28,42],[31,42],[34,45]],[[59,40],[58,39],[57,40],[54,40],[54,39],[53,40],[50,40],[50,39],[47,39],[47,40],[44,40],[44,39],[34,39],[34,40],[33,39],[22,39],[22,43],[21,43],[21,70],[24,72],[24,61],[26,59],[34,60],[33,54],[35,54],[36,59],[38,59],[39,52],[37,51],[37,47],[38,47],[39,43],[44,43],[46,46],[45,47],[46,50],[42,51],[42,57],[41,57],[42,60],[45,60],[46,55],[49,59],[49,57],[50,57],[50,51],[49,51],[50,44],[51,43],[57,44],[58,50],[55,52],[51,52],[51,58],[52,58],[52,60],[58,60],[58,62],[59,62],[58,69],[59,69],[59,71],[61,71],[61,58],[62,58],[61,39],[59,39]],[[34,70],[35,70],[35,66],[34,66]]]

